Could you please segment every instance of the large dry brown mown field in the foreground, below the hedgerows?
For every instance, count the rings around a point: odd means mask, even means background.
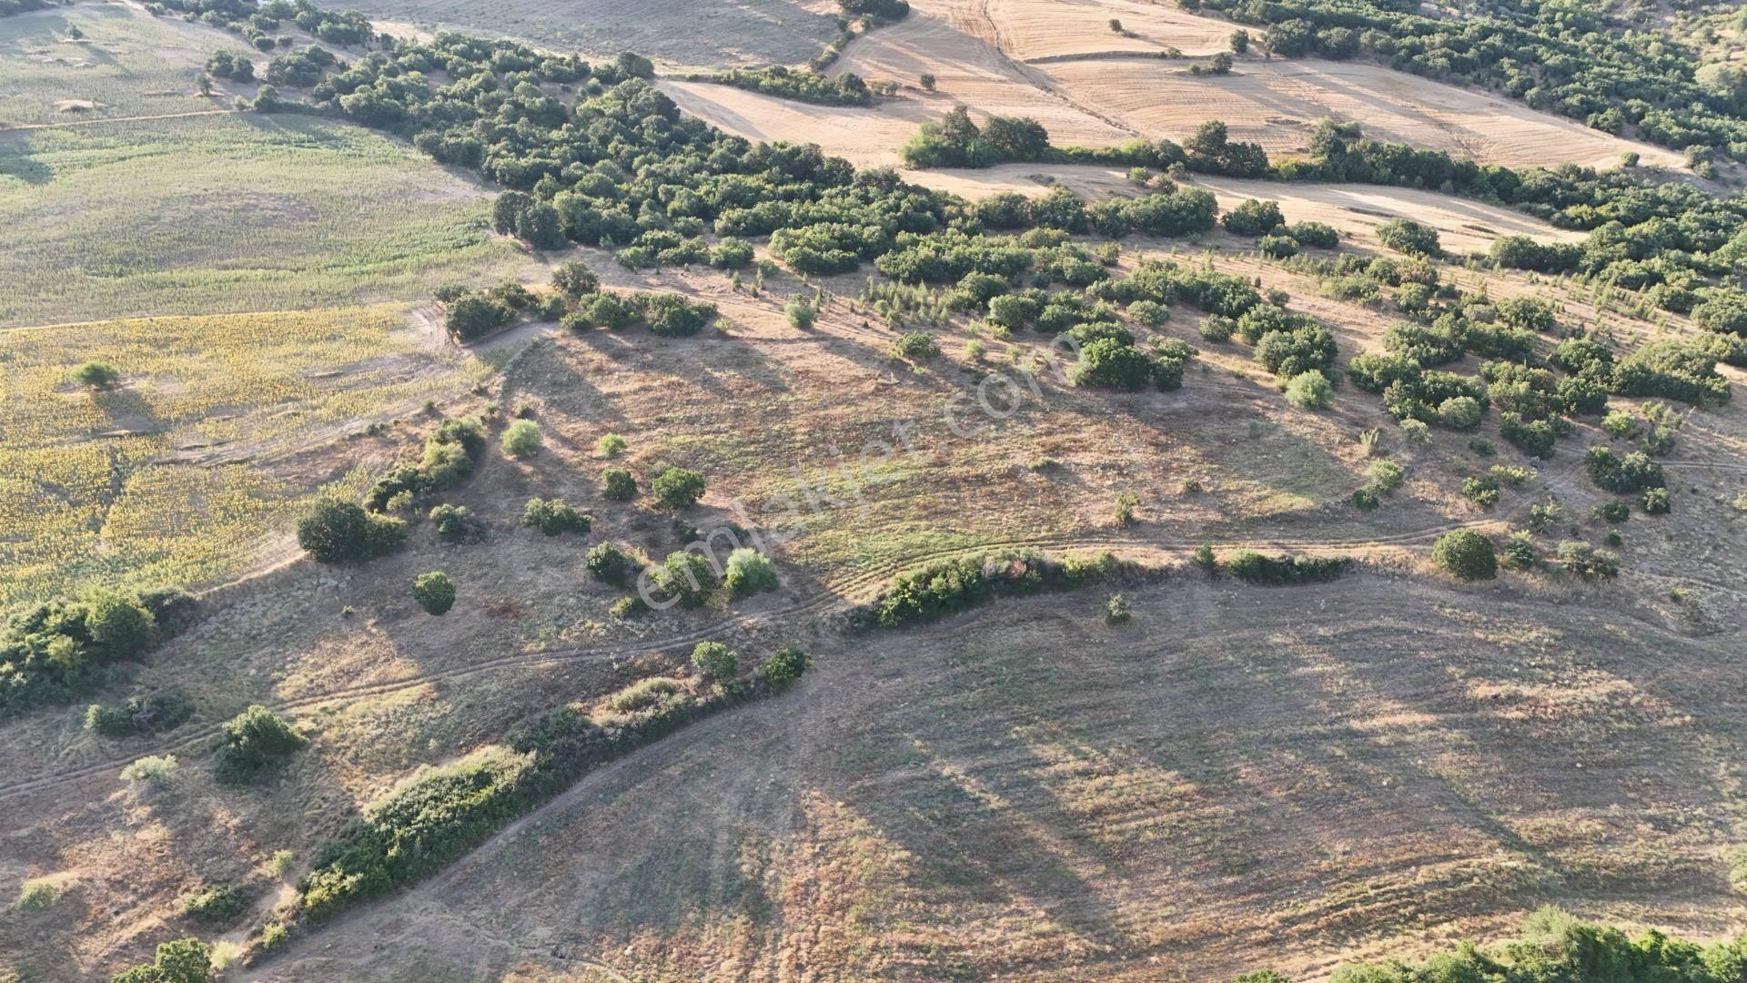
[[[1548,899],[1747,918],[1726,644],[1382,575],[1132,596],[821,649],[250,978],[1315,978]]]

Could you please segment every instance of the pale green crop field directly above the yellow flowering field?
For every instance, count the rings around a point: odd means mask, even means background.
[[[533,264],[412,147],[255,114],[0,135],[0,325],[423,299]]]

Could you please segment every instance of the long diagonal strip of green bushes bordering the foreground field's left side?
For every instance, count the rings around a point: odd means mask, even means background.
[[[720,661],[713,663],[720,668]],[[791,686],[809,659],[783,649],[748,679],[685,687],[632,684],[606,698],[608,712],[549,710],[442,768],[421,768],[370,803],[363,819],[323,848],[300,883],[311,918],[430,875],[590,768],[732,703]]]

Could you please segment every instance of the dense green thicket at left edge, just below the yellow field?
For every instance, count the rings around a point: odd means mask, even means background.
[[[63,701],[108,677],[119,661],[157,647],[157,610],[175,610],[180,591],[93,593],[12,612],[0,624],[0,714]]]

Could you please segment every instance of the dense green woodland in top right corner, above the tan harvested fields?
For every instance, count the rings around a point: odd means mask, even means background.
[[[1373,58],[1431,79],[1466,82],[1534,108],[1653,143],[1747,159],[1747,84],[1702,68],[1698,52],[1654,40],[1600,5],[1511,0],[1440,17],[1396,0],[1200,0],[1263,24],[1274,54]]]

